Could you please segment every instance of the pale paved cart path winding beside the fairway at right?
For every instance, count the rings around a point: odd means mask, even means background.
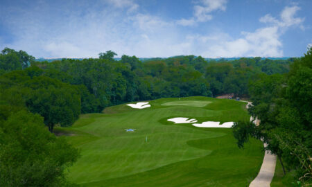
[[[243,101],[243,100],[242,100]],[[251,102],[247,102],[246,108],[248,109],[250,105],[252,105]],[[253,118],[250,117],[250,121],[252,121]],[[259,125],[260,121],[256,118],[254,121],[254,124]],[[266,148],[267,144],[263,143],[264,148]],[[257,175],[257,177],[250,183],[250,187],[270,187],[270,183],[274,177],[275,172],[275,166],[276,166],[276,155],[271,154],[270,151],[266,151],[264,154],[263,162],[260,168],[260,171]]]

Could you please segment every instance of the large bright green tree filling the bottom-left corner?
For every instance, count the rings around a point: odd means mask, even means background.
[[[37,114],[21,110],[0,123],[0,186],[68,186],[64,170],[78,155]]]

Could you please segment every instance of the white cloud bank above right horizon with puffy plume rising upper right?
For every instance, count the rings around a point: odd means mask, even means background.
[[[281,11],[279,19],[271,15],[265,15],[259,19],[260,22],[269,24],[266,27],[258,28],[252,33],[242,32],[238,39],[217,37],[218,42],[206,42],[207,48],[201,55],[209,57],[281,57],[283,56],[281,35],[291,26],[302,28],[304,18],[295,17],[300,10],[297,6],[286,7]],[[207,38],[207,36],[203,37]],[[205,41],[199,37],[197,42]],[[209,44],[209,45],[208,45]]]

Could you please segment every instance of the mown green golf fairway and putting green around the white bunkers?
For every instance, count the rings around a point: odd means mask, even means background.
[[[257,176],[263,159],[260,141],[252,139],[241,150],[231,129],[166,121],[248,120],[246,103],[190,97],[162,98],[150,105],[109,107],[105,114],[85,114],[72,127],[58,128],[74,134],[67,139],[81,150],[69,180],[81,186],[248,186]],[[128,128],[136,131],[125,132]]]

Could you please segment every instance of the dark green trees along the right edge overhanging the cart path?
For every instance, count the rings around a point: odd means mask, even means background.
[[[261,123],[254,127],[255,132],[248,132],[244,123],[236,125],[234,136],[239,146],[257,134],[268,143],[267,149],[277,154],[284,173],[295,171],[297,181],[311,184],[312,48],[291,64],[286,75],[262,74],[250,82],[250,95],[254,105],[250,113]]]

